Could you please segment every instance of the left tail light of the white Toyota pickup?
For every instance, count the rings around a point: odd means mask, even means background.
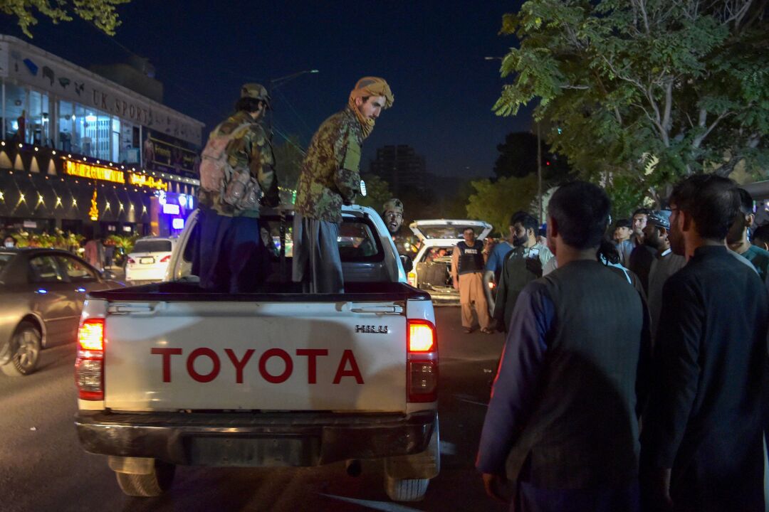
[[[104,400],[104,319],[85,319],[80,324],[75,384],[78,398]]]

